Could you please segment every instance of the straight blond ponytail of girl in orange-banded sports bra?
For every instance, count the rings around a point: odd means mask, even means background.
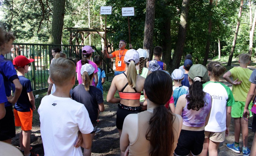
[[[135,63],[133,60],[130,61],[129,63],[126,63],[126,66],[128,66],[127,70],[127,79],[128,79],[128,84],[132,86],[133,88],[136,87],[136,79],[137,79],[137,70],[135,67]]]

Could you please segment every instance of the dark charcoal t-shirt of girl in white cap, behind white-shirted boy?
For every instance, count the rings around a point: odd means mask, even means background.
[[[90,86],[87,92],[83,84],[79,84],[72,91],[72,99],[84,104],[91,121],[96,121],[98,118],[98,104],[103,103],[102,92],[95,86]]]

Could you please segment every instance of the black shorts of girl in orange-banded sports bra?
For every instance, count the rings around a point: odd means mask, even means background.
[[[135,108],[135,107],[134,107]],[[123,129],[123,121],[125,117],[129,114],[137,114],[141,111],[130,111],[126,109],[117,108],[117,119],[116,119],[116,125],[117,129],[122,130]]]

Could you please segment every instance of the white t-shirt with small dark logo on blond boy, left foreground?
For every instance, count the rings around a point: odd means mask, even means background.
[[[38,108],[44,155],[82,156],[81,147],[75,148],[78,130],[82,134],[93,131],[84,104],[70,98],[44,96]]]

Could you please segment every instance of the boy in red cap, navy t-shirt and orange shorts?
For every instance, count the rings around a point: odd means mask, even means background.
[[[34,59],[27,59],[25,56],[17,56],[13,60],[14,68],[17,70],[22,92],[16,104],[14,105],[15,126],[21,126],[20,132],[20,151],[25,156],[39,156],[33,152],[30,153],[30,135],[32,130],[32,117],[35,110],[35,97],[32,93],[32,86],[29,79],[25,78],[29,66]],[[15,86],[12,84],[15,91]]]

